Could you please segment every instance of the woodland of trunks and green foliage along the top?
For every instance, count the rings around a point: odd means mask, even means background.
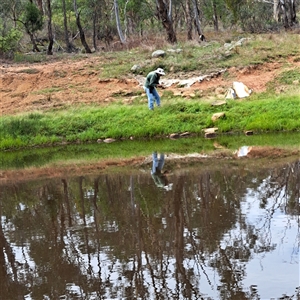
[[[298,10],[299,0],[1,0],[0,57],[128,49],[157,35],[176,44],[209,32],[299,30]]]

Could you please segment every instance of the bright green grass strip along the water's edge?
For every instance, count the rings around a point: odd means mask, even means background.
[[[300,129],[299,95],[268,98],[257,95],[247,101],[230,100],[222,107],[171,96],[163,99],[163,106],[154,111],[139,104],[4,116],[0,123],[0,149],[86,143],[105,138],[142,139],[186,131],[203,135],[203,129],[209,127],[218,127],[220,134]],[[224,112],[225,116],[213,122],[211,117],[217,112]]]

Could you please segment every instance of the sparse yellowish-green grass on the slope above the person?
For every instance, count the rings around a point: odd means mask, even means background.
[[[155,50],[153,47],[144,50],[137,48],[130,51],[103,53],[103,61],[106,63],[95,65],[94,68],[101,69],[99,75],[101,78],[127,76],[133,64],[141,67],[136,73],[142,75],[146,75],[157,67],[164,68],[168,74],[197,72],[201,75],[232,66],[246,67],[275,61],[287,63],[286,58],[289,56],[294,56],[295,59],[300,57],[300,37],[297,34],[230,36],[233,43],[241,38],[247,38],[247,40],[243,42],[242,46],[231,50],[229,54],[224,49],[228,36],[212,35],[206,44],[194,41],[178,43],[175,46],[157,45],[157,49],[166,52],[166,56],[159,59],[151,59],[151,54]],[[174,53],[168,51],[170,49],[181,49],[182,51]]]

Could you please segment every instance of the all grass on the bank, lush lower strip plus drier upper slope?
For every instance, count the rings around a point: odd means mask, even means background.
[[[212,106],[212,101],[209,103],[200,95],[187,100],[168,91],[161,91],[162,108],[153,112],[148,111],[145,96],[138,94],[130,105],[72,106],[1,116],[0,150],[95,142],[105,138],[152,138],[186,131],[203,135],[203,129],[209,127],[218,127],[220,134],[245,130],[299,131],[300,68],[291,69],[288,62],[300,60],[299,35],[284,33],[251,36],[242,47],[235,47],[230,54],[226,54],[223,44],[239,39],[231,36],[223,37],[223,40],[212,39],[205,45],[192,42],[178,44],[176,47],[184,51],[175,56],[168,55],[163,60],[151,61],[151,51],[155,48],[167,50],[170,45],[152,45],[148,50],[97,55],[103,56],[107,62],[101,65],[101,76],[106,78],[122,77],[130,73],[133,61],[141,63],[142,68],[138,72],[144,76],[158,66],[165,68],[168,74],[194,71],[205,74],[209,70],[230,66],[238,68],[278,61],[284,68],[278,70],[279,75],[269,83],[265,93],[254,93],[246,99],[228,100],[223,106]],[[99,66],[93,65],[90,68],[94,68],[92,72]],[[223,76],[228,74],[225,72]],[[224,112],[225,116],[213,122],[211,117],[218,112]]]

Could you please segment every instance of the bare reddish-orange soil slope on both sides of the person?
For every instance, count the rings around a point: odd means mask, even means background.
[[[297,64],[300,65],[299,62]],[[117,98],[116,95],[122,95],[123,103],[130,104],[137,92],[142,91],[143,78],[132,76],[126,79],[101,80],[101,68],[100,71],[94,71],[95,65],[101,66],[100,57],[91,56],[77,61],[49,60],[45,63],[22,65],[2,62],[0,113],[16,114],[84,103],[103,105],[120,101],[120,97]],[[241,81],[254,92],[262,92],[281,67],[280,63],[267,63],[243,69],[231,68],[228,70],[227,80],[216,76],[196,82],[189,88],[180,88],[174,84],[167,90],[187,98],[198,92],[205,99],[214,96],[217,88],[228,89],[233,81]],[[178,78],[181,74],[167,74],[164,78],[172,79],[173,75]],[[197,77],[200,74],[183,76],[186,79],[187,76]]]

